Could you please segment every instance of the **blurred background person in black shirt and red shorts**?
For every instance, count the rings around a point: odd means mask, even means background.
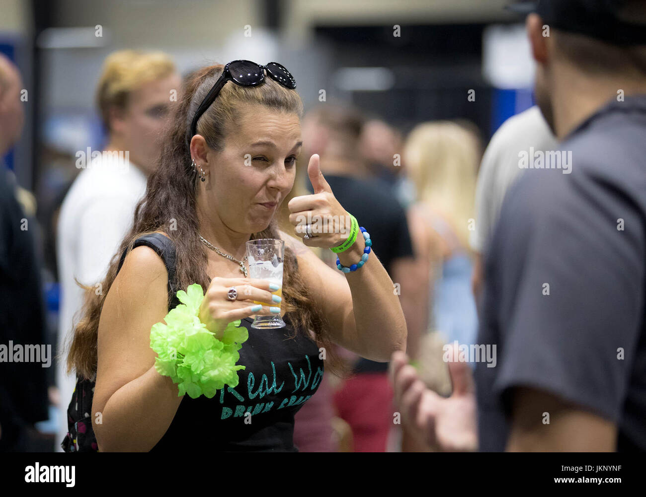
[[[407,350],[415,354],[421,333],[419,279],[406,213],[390,188],[371,176],[361,156],[363,125],[364,117],[357,108],[319,104],[303,118],[303,146],[306,156],[319,154],[321,170],[339,202],[357,219],[363,219],[362,225],[371,236],[382,240],[379,259],[393,283],[400,285],[393,292],[399,292],[406,317]],[[335,254],[328,252],[328,261],[335,266]],[[393,430],[388,363],[364,358],[353,358],[352,363],[355,374],[335,391],[337,412],[351,427],[355,452],[384,452]]]

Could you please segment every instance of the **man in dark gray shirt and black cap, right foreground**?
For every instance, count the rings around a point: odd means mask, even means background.
[[[519,158],[485,253],[478,342],[495,367],[477,363],[474,396],[449,363],[443,399],[396,352],[395,398],[442,448],[646,451],[646,4],[536,8],[537,103],[560,154]]]

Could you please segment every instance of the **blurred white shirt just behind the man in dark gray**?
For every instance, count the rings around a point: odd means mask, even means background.
[[[507,119],[485,150],[475,187],[475,229],[469,239],[476,252],[485,251],[507,188],[524,170],[519,165],[519,152],[530,147],[543,152],[557,147],[556,137],[536,106]]]

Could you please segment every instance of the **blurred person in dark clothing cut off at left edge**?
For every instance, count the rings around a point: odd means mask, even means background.
[[[22,88],[17,67],[0,55],[0,157],[14,147],[23,128]],[[48,418],[45,361],[8,358],[14,358],[16,345],[42,350],[48,344],[50,361],[54,352],[45,326],[34,211],[33,196],[0,164],[0,345],[5,349],[0,352],[0,452],[42,450],[34,423]]]

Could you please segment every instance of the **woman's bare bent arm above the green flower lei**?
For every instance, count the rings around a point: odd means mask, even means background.
[[[99,451],[149,451],[182,401],[171,378],[154,369],[150,332],[168,312],[168,274],[149,247],[136,247],[108,292],[98,335],[92,402]],[[100,412],[101,423],[96,414]]]

